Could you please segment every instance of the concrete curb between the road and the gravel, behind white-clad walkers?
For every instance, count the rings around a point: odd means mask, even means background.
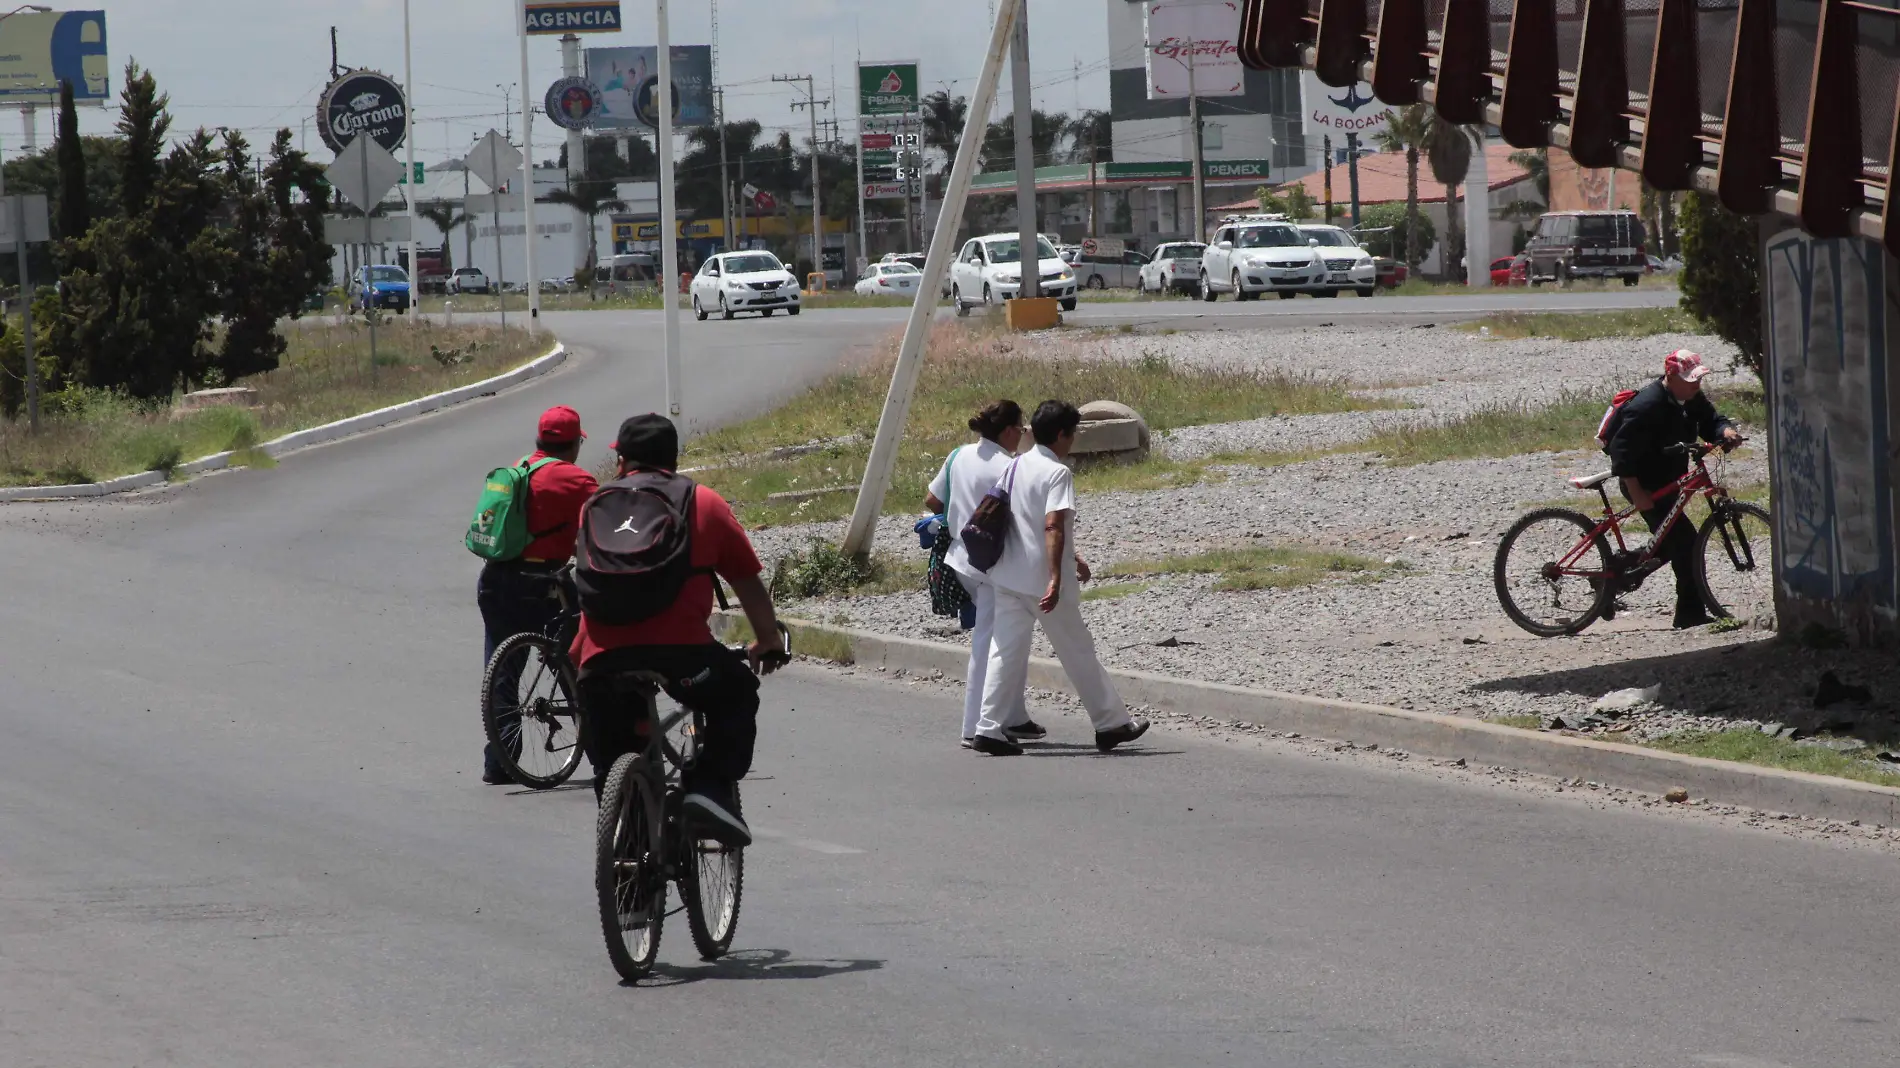
[[[948,678],[961,678],[969,659],[967,650],[942,642],[847,631],[796,620],[787,620],[787,623],[794,629],[794,648],[798,629],[826,631],[847,640],[851,663],[863,667],[910,673],[940,671]],[[1315,737],[1357,741],[1358,745],[1391,745],[1419,756],[1465,758],[1474,764],[1499,764],[1543,775],[1581,775],[1657,794],[1683,787],[1693,798],[1763,811],[1816,815],[1843,823],[1858,819],[1885,827],[1900,825],[1900,789],[1894,787],[1680,756],[1636,745],[1564,737],[1463,716],[1170,678],[1148,671],[1110,671],[1110,675],[1130,705],[1150,705],[1170,713],[1239,720]],[[1072,690],[1062,665],[1053,659],[1030,661],[1030,686]]]

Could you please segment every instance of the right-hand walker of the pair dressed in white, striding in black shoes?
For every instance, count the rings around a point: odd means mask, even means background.
[[[1009,536],[1003,557],[990,568],[996,587],[996,625],[990,639],[990,665],[982,680],[982,716],[971,749],[990,756],[1013,756],[1022,747],[1011,741],[1005,720],[1013,696],[1022,694],[1030,673],[1030,642],[1036,623],[1043,625],[1062,671],[1075,684],[1075,696],[1094,724],[1094,747],[1102,753],[1148,732],[1148,720],[1129,718],[1108,671],[1094,656],[1094,639],[1081,618],[1081,583],[1075,544],[1075,475],[1062,464],[1075,447],[1081,412],[1066,401],[1043,401],[1030,418],[1036,448],[1015,460],[1003,475],[1009,486]]]

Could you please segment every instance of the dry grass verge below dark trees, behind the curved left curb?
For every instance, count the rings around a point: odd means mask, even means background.
[[[376,334],[372,363],[369,325],[361,319],[289,325],[283,365],[234,382],[256,390],[255,410],[171,418],[169,405],[104,391],[51,395],[38,435],[28,433],[25,416],[0,420],[0,485],[51,486],[171,471],[186,460],[245,450],[293,429],[500,374],[551,344],[545,334],[433,323],[391,323]]]

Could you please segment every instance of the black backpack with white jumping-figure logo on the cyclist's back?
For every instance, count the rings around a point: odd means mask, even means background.
[[[595,623],[625,625],[673,606],[695,574],[697,488],[673,471],[638,469],[587,498],[574,545],[581,614]]]

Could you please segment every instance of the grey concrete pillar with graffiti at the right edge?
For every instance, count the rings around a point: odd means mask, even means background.
[[[1769,222],[1761,298],[1780,631],[1896,631],[1894,378],[1900,264],[1875,241]]]

